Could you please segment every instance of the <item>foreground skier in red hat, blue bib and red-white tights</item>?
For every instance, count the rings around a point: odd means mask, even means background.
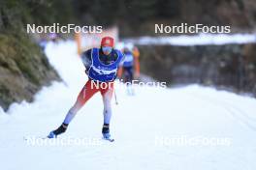
[[[81,60],[88,75],[88,80],[81,89],[77,101],[68,111],[62,125],[50,131],[48,138],[55,138],[65,132],[86,101],[97,92],[100,92],[104,104],[103,138],[113,141],[110,133],[113,81],[116,78],[118,67],[124,60],[124,55],[121,51],[113,48],[113,43],[111,37],[104,37],[100,48],[91,48],[81,53]],[[103,83],[104,85],[102,85]]]

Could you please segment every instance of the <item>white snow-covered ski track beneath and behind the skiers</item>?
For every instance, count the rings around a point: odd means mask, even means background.
[[[136,96],[129,97],[117,84],[119,104],[112,104],[114,142],[101,140],[103,106],[97,94],[59,139],[28,144],[24,137],[45,136],[62,123],[86,81],[75,42],[48,43],[46,52],[65,83],[53,82],[33,103],[13,104],[9,115],[0,110],[1,169],[256,168],[256,99],[198,85],[137,87]],[[175,138],[180,140],[172,142]],[[84,139],[85,145],[76,144],[76,139]],[[209,139],[222,142],[208,143]],[[57,143],[61,140],[72,142]]]

